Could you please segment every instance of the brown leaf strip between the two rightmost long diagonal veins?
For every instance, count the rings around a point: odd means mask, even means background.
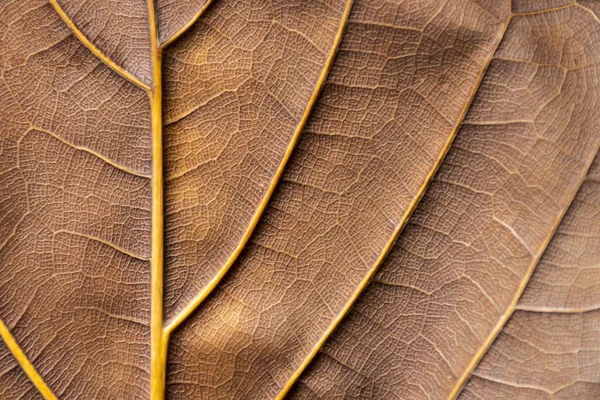
[[[458,393],[600,144],[599,33],[579,7],[511,19],[404,234],[292,397]]]

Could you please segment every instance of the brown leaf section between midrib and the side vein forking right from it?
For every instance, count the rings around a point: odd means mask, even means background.
[[[260,216],[346,4],[216,2],[165,53],[167,321],[231,265]]]

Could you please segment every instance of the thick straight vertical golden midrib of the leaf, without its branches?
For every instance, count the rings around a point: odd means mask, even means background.
[[[164,185],[163,185],[163,121],[162,121],[162,67],[158,45],[158,27],[154,0],[147,0],[152,49],[152,254],[150,260],[150,398],[165,397],[167,346],[163,344],[164,292]]]

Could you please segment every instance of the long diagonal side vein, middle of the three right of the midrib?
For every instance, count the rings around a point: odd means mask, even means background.
[[[400,235],[400,233],[404,229],[404,226],[406,225],[406,221],[408,221],[408,218],[410,217],[410,215],[412,214],[412,212],[414,211],[414,209],[417,207],[417,204],[421,200],[421,197],[423,197],[423,194],[425,193],[425,190],[429,186],[429,183],[431,182],[431,179],[433,178],[433,176],[437,172],[438,168],[442,164],[442,161],[444,160],[444,157],[446,156],[446,153],[448,152],[448,149],[452,145],[454,137],[456,136],[456,133],[460,129],[462,121],[465,118],[465,116],[467,114],[467,111],[469,110],[469,107],[471,106],[471,103],[473,102],[473,99],[475,98],[475,94],[477,93],[477,90],[479,89],[479,86],[481,84],[483,76],[485,75],[485,72],[487,71],[487,68],[489,67],[490,62],[492,61],[492,57],[493,57],[494,53],[496,52],[496,49],[500,45],[502,37],[504,36],[504,32],[506,32],[506,28],[508,27],[509,21],[510,21],[510,18],[507,18],[506,21],[504,22],[504,26],[503,26],[500,34],[496,38],[496,42],[494,43],[494,47],[490,51],[490,55],[489,55],[488,59],[486,60],[486,62],[482,66],[481,70],[479,71],[479,75],[478,75],[477,81],[473,85],[473,87],[471,89],[471,93],[469,94],[469,99],[465,103],[465,105],[463,106],[463,108],[461,110],[461,113],[460,113],[460,116],[459,116],[458,120],[456,121],[456,124],[454,125],[454,129],[452,129],[452,132],[450,133],[450,136],[448,137],[448,140],[446,141],[446,143],[444,145],[444,148],[442,149],[442,151],[440,153],[440,156],[438,157],[438,159],[436,161],[436,164],[433,166],[433,168],[431,169],[431,171],[427,175],[427,177],[425,179],[425,182],[423,183],[423,185],[419,189],[419,192],[413,198],[413,200],[410,203],[410,205],[409,205],[406,213],[404,214],[404,216],[402,217],[400,223],[398,224],[398,226],[396,227],[396,229],[392,233],[392,236],[390,237],[390,239],[386,243],[386,245],[383,248],[381,254],[379,255],[379,257],[377,258],[377,260],[373,264],[373,267],[367,272],[367,274],[365,275],[365,277],[363,278],[363,280],[361,281],[361,283],[358,285],[358,287],[356,288],[356,290],[354,291],[354,293],[352,294],[352,296],[350,297],[350,299],[348,300],[348,302],[346,303],[346,305],[342,309],[341,313],[331,323],[331,325],[329,325],[329,327],[323,333],[323,335],[321,336],[321,338],[319,339],[319,341],[315,344],[315,346],[312,348],[312,350],[310,351],[310,353],[303,360],[302,364],[293,373],[293,375],[290,377],[290,379],[285,383],[284,387],[281,389],[281,391],[277,395],[276,400],[282,400],[282,399],[284,399],[285,396],[289,393],[289,391],[292,389],[292,387],[294,386],[294,384],[296,383],[296,381],[298,381],[298,379],[300,378],[300,376],[302,375],[302,373],[306,370],[306,368],[308,368],[308,366],[310,365],[310,363],[312,362],[312,360],[317,356],[317,354],[319,353],[319,351],[321,350],[321,348],[323,347],[323,345],[325,344],[325,342],[327,341],[327,339],[329,339],[329,337],[333,334],[333,332],[335,331],[335,329],[340,325],[340,323],[342,322],[342,320],[346,317],[346,315],[348,314],[348,312],[350,311],[350,309],[354,306],[354,304],[356,303],[356,301],[358,300],[358,298],[360,297],[360,295],[362,294],[362,292],[366,289],[366,287],[369,284],[371,278],[373,277],[373,275],[375,275],[375,272],[377,272],[377,270],[379,269],[379,267],[383,263],[383,260],[386,258],[387,254],[392,249],[392,246],[396,242],[396,239],[398,238],[398,236]]]

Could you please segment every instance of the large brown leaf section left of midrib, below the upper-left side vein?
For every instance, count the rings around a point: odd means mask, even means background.
[[[57,396],[147,397],[147,96],[47,2],[0,14],[0,315]]]

